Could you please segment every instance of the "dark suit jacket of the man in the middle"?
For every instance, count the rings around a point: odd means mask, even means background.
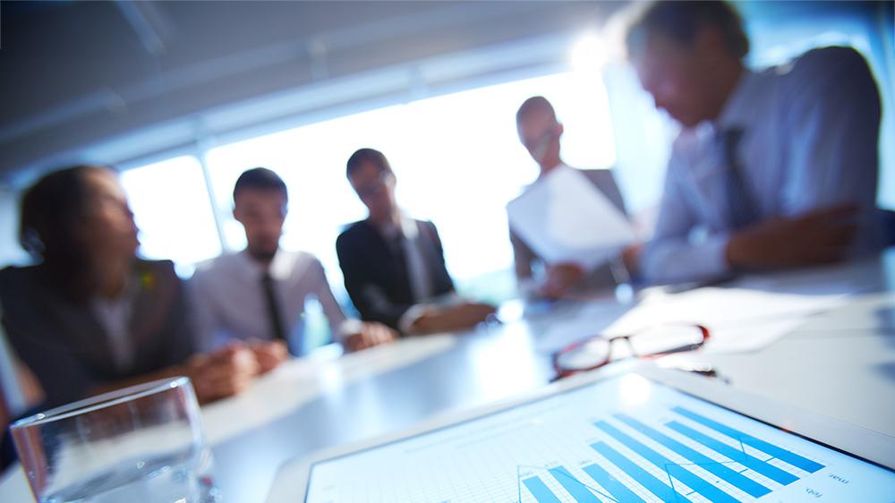
[[[454,282],[445,268],[438,230],[431,222],[414,222],[420,231],[422,259],[429,271],[433,294],[453,292]],[[361,318],[397,328],[398,321],[413,304],[427,299],[413,298],[407,264],[393,250],[379,229],[367,220],[349,226],[336,241],[345,289]]]

